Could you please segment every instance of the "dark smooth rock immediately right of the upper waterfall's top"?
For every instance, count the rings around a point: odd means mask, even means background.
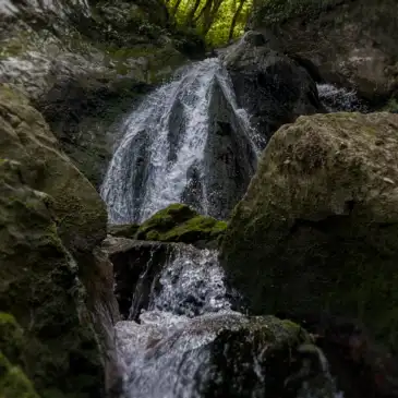
[[[261,146],[280,125],[324,110],[305,69],[272,49],[261,33],[248,32],[221,58],[231,74],[239,106],[248,110],[262,135]]]

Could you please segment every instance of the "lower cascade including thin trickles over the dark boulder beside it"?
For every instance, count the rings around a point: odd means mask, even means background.
[[[232,311],[217,255],[216,251],[174,245],[158,275],[148,281],[150,297],[138,319],[116,325],[124,373],[123,398],[219,398],[229,396],[226,383],[232,381],[237,388],[243,388],[233,397],[268,396],[266,377],[270,370],[263,355],[269,347],[258,345],[250,334],[241,334],[242,328],[251,329],[253,319]],[[224,337],[226,331],[229,337]],[[302,349],[309,352],[305,346]],[[321,350],[315,351],[321,373],[315,384],[304,381],[298,397],[341,398],[326,358]],[[215,365],[217,352],[221,366],[218,362]],[[226,361],[234,364],[226,365]],[[300,376],[292,375],[286,383],[293,384]]]

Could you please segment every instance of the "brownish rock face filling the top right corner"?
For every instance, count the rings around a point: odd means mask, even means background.
[[[398,89],[397,14],[395,0],[257,1],[249,27],[377,102]]]

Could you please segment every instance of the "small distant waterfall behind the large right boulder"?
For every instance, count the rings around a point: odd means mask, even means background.
[[[366,112],[354,89],[348,91],[333,84],[317,84],[319,99],[329,112]]]

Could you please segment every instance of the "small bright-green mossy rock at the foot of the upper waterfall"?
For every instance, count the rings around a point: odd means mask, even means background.
[[[227,222],[201,216],[186,205],[172,204],[145,221],[135,239],[216,246]]]

